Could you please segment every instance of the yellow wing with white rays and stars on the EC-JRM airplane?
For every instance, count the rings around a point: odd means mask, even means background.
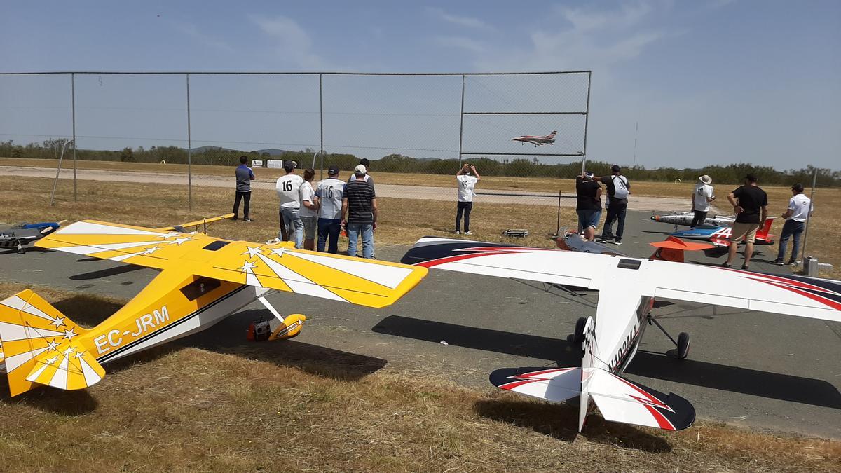
[[[36,246],[371,307],[389,306],[426,268],[297,250],[289,243],[231,242],[201,234],[80,221]]]

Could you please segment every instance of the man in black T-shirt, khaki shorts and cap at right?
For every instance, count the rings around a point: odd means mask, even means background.
[[[750,258],[754,255],[754,240],[759,226],[768,217],[768,194],[756,184],[757,177],[748,173],[744,177],[744,185],[727,194],[727,200],[733,205],[736,221],[730,233],[730,249],[727,261],[722,263],[724,268],[730,268],[736,258],[739,240],[744,240],[744,263],[742,269],[748,269]]]

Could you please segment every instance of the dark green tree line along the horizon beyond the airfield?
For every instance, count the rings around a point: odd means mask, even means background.
[[[41,143],[16,145],[13,141],[0,141],[0,157],[29,157],[39,159],[57,159],[61,153],[64,141],[45,140]],[[299,167],[313,165],[315,150],[283,151],[280,155],[269,155],[267,152],[238,151],[213,146],[204,146],[193,150],[189,160],[197,165],[235,166],[239,164],[241,156],[249,159],[260,159],[266,165],[268,159],[292,160],[299,163]],[[151,146],[144,148],[126,147],[120,151],[107,150],[77,150],[77,159],[87,161],[119,161],[119,162],[168,162],[186,164],[188,152],[178,146]],[[483,176],[503,176],[516,178],[575,178],[581,173],[581,162],[562,164],[545,164],[537,157],[529,159],[495,160],[487,157],[465,157],[463,162],[469,162],[477,167]],[[315,167],[320,167],[320,157],[315,160]],[[335,164],[342,171],[352,171],[359,163],[359,158],[352,154],[328,154],[324,157],[325,167]],[[596,175],[611,173],[612,162],[589,161],[587,170]],[[621,163],[620,163],[621,165]],[[420,173],[420,174],[454,174],[458,171],[458,159],[416,158],[400,154],[389,154],[378,160],[372,160],[372,170],[379,173]],[[637,181],[674,182],[675,179],[685,183],[695,182],[699,176],[707,174],[716,183],[738,184],[746,173],[759,176],[759,183],[766,185],[791,185],[803,183],[812,184],[815,167],[807,166],[801,169],[780,171],[770,166],[756,166],[751,163],[733,163],[711,165],[701,168],[659,167],[647,169],[643,166],[623,167],[622,173]],[[828,168],[817,168],[818,187],[841,187],[841,171]]]

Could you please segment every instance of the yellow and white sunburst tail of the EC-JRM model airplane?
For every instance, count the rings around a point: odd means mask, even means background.
[[[32,290],[0,300],[0,360],[12,396],[35,383],[80,389],[102,379],[96,359],[73,341],[85,332]]]

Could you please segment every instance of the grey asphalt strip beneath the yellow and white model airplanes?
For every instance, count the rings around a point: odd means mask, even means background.
[[[617,249],[639,257],[652,252],[648,242],[663,239],[673,226],[648,221],[649,215],[628,212],[624,244]],[[398,261],[407,249],[380,247],[376,254]],[[772,248],[758,247],[751,268],[785,271],[767,263],[774,257]],[[698,252],[688,260],[721,263],[723,257]],[[129,298],[155,275],[147,268],[60,252],[0,253],[4,281],[98,295]],[[555,293],[537,283],[433,269],[415,290],[381,310],[304,295],[270,296],[284,315],[309,316],[294,340],[246,342],[248,323],[270,316],[255,302],[181,343],[283,359],[304,369],[315,363],[316,371],[319,363],[335,360],[356,371],[395,370],[493,390],[487,380],[493,369],[579,364],[568,336],[579,316],[595,314],[581,301],[592,305],[598,293]],[[690,333],[689,359],[666,354],[674,344],[656,327],[648,327],[627,370],[629,378],[685,397],[702,419],[841,438],[841,323],[665,300],[655,307],[654,314],[673,337]]]

